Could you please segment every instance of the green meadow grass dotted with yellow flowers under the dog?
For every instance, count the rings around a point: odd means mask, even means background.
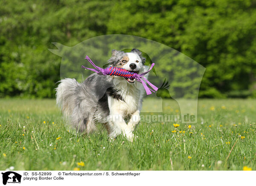
[[[158,106],[148,99],[143,109]],[[140,123],[131,143],[102,127],[76,137],[53,99],[0,99],[0,170],[256,170],[255,112],[253,99],[202,99],[198,124],[173,133],[172,123]]]

